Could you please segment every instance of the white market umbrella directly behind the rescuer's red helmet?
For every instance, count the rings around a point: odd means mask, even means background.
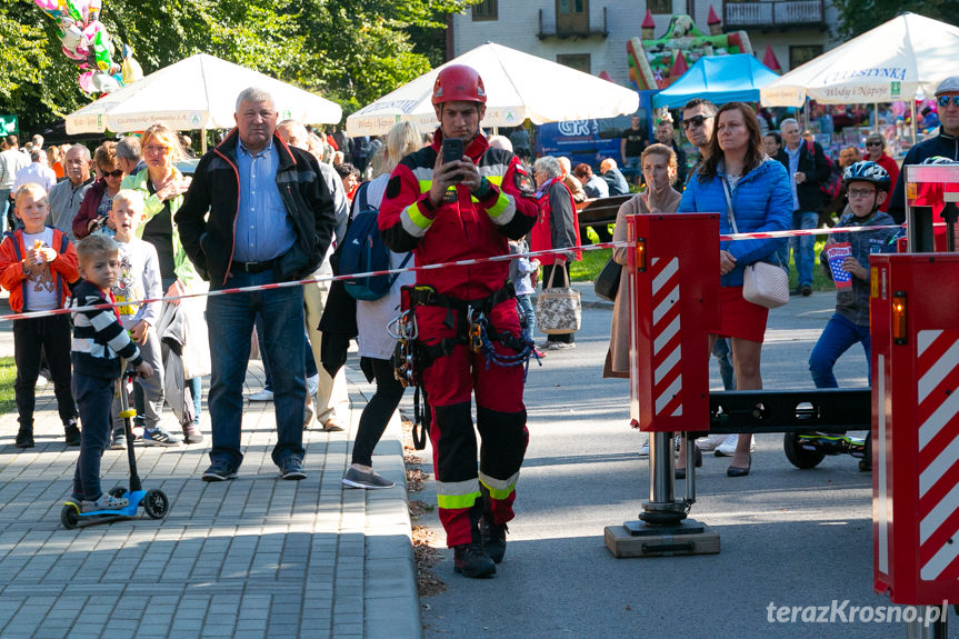
[[[639,109],[639,93],[633,90],[487,42],[349,116],[347,134],[382,136],[403,120],[422,131],[436,128],[433,82],[440,69],[449,64],[467,64],[479,72],[487,92],[487,127],[517,127],[527,119],[543,124],[612,118]]]

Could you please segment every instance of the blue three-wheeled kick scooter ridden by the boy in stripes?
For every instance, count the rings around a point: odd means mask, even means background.
[[[137,415],[134,409],[131,409],[128,400],[128,385],[132,383],[136,372],[132,369],[126,368],[120,379],[117,380],[117,392],[120,395],[120,417],[123,418],[123,432],[127,437],[127,459],[130,462],[130,490],[122,486],[117,486],[110,489],[110,495],[113,497],[123,497],[129,500],[124,508],[117,510],[92,510],[83,512],[82,505],[73,500],[68,500],[63,503],[60,510],[60,522],[64,528],[84,528],[97,523],[109,523],[119,519],[132,519],[137,517],[140,506],[151,519],[162,519],[167,516],[170,509],[170,500],[167,495],[157,488],[143,490],[140,483],[140,476],[137,473],[137,455],[133,452],[133,426],[131,419]]]

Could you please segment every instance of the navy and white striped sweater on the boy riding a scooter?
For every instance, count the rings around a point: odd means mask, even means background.
[[[69,308],[112,303],[103,291],[86,280],[73,288]],[[113,309],[94,309],[73,313],[73,342],[70,359],[73,370],[90,377],[120,377],[120,358],[139,366],[143,358],[130,339]]]

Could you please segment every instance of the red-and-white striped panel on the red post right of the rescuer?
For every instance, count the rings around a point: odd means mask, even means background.
[[[652,396],[659,417],[682,416],[681,323],[679,259],[651,260],[652,276]]]

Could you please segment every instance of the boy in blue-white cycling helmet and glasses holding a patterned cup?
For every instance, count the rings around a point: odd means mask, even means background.
[[[890,180],[886,169],[876,162],[856,162],[842,173],[842,186],[849,197],[849,206],[836,224],[839,227],[890,227],[895,222],[889,213],[879,211],[889,193]],[[829,236],[819,253],[826,274],[837,282],[836,313],[822,329],[819,341],[809,356],[809,371],[816,388],[838,388],[832,367],[836,360],[853,345],[861,343],[869,365],[869,256],[895,251],[890,240],[895,228]],[[849,254],[836,269],[830,268],[830,249],[848,244]],[[847,276],[848,273],[848,276]],[[851,286],[842,280],[851,279]],[[871,371],[870,371],[871,379]],[[868,457],[860,462],[861,470],[871,468]]]

